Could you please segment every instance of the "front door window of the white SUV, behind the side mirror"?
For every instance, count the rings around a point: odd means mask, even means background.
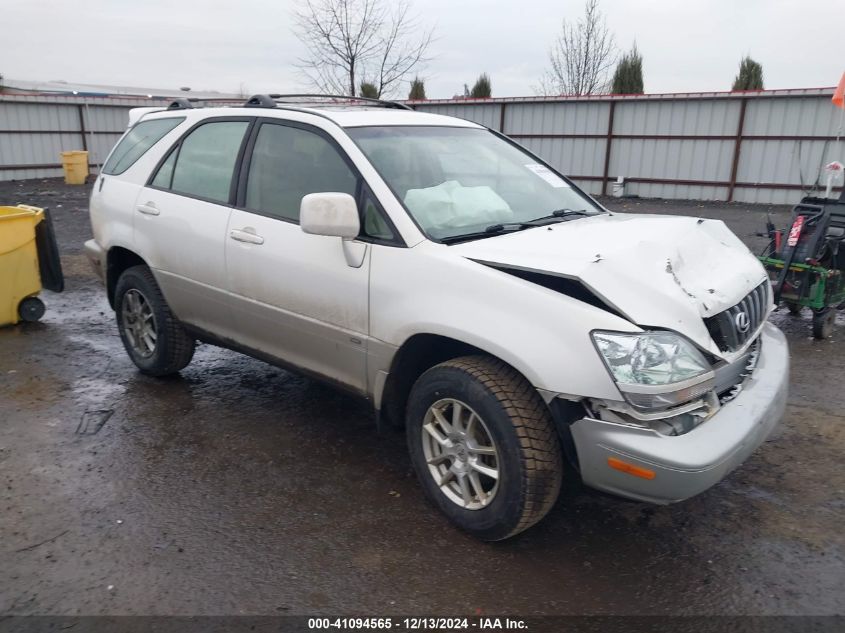
[[[298,222],[306,194],[337,191],[354,196],[357,184],[338,151],[319,134],[265,123],[249,163],[245,203],[247,209]]]

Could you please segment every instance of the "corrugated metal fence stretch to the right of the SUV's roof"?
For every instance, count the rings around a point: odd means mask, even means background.
[[[845,162],[832,88],[418,102],[504,132],[579,186],[656,198],[795,202]]]

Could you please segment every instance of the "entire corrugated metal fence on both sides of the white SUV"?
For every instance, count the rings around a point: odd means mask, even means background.
[[[642,96],[431,100],[418,109],[503,131],[595,194],[618,176],[642,197],[789,203],[845,161],[832,88]],[[60,176],[87,149],[96,171],[149,99],[0,95],[0,180]]]

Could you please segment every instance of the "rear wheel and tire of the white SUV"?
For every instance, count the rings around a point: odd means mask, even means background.
[[[114,296],[120,340],[141,373],[170,376],[191,362],[195,341],[173,316],[149,268],[133,266],[123,271]],[[152,334],[148,327],[138,325],[141,322],[152,326]]]

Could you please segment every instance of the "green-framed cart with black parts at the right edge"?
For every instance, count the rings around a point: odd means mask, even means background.
[[[792,314],[813,311],[813,336],[833,333],[836,308],[845,302],[845,191],[838,200],[808,197],[792,209],[788,231],[768,222],[760,261],[772,280],[775,304]]]

